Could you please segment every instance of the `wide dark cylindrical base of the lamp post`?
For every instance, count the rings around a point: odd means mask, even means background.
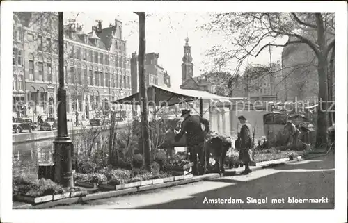
[[[72,177],[72,141],[68,135],[54,139],[54,181],[65,188],[74,186]]]

